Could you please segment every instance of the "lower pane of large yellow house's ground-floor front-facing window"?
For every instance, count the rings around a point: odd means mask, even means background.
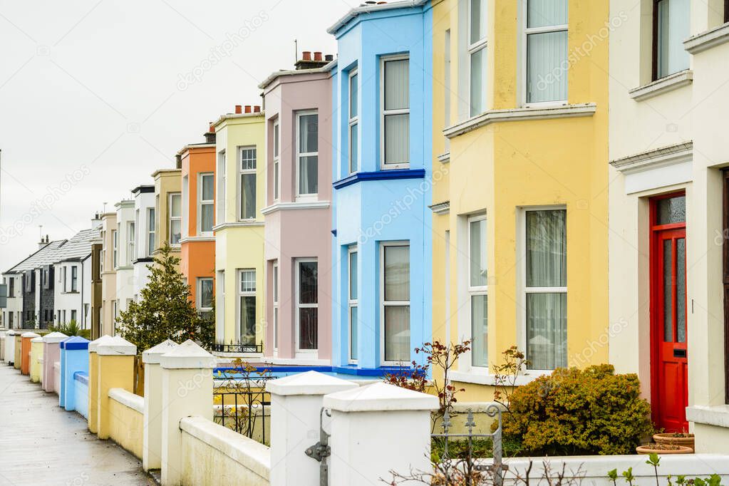
[[[529,369],[567,366],[567,294],[526,294]]]

